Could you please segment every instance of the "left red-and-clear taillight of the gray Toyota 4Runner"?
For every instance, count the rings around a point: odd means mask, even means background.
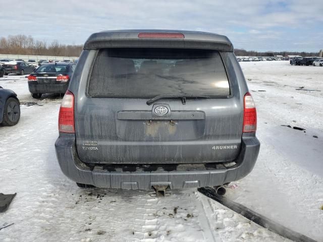
[[[69,90],[66,91],[59,114],[59,132],[74,134],[74,95]]]

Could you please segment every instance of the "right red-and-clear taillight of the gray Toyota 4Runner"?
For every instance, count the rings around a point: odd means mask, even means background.
[[[257,129],[257,112],[249,92],[244,95],[243,133],[254,133]]]

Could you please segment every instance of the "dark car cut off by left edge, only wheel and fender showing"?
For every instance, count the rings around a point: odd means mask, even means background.
[[[3,126],[14,126],[19,122],[20,102],[17,94],[0,87],[0,124]]]

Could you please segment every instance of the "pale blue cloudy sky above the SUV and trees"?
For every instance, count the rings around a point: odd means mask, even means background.
[[[103,30],[179,29],[223,34],[246,50],[323,49],[321,0],[33,0],[14,8],[0,0],[0,6],[0,36],[47,43],[83,44]]]

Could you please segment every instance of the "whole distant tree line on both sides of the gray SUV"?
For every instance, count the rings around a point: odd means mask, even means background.
[[[83,45],[61,44],[58,40],[47,43],[45,40],[35,40],[32,36],[9,35],[0,38],[0,54],[27,54],[27,55],[53,55],[53,56],[79,56]],[[301,55],[317,56],[318,52],[257,52],[254,50],[235,49],[239,56],[274,56],[274,55]]]

